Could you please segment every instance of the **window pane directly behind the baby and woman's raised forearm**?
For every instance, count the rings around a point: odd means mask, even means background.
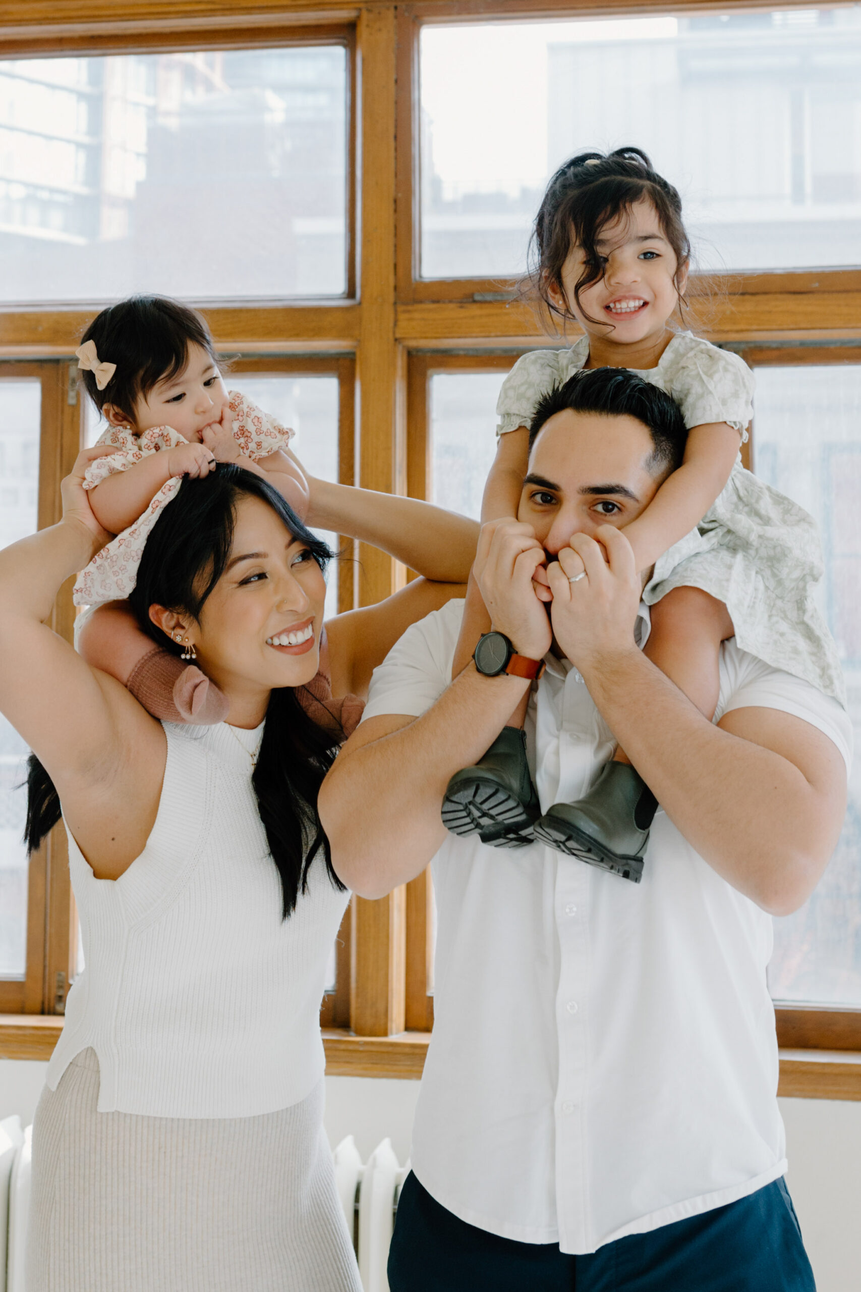
[[[311,475],[338,478],[338,379],[294,377],[284,373],[263,376],[247,372],[225,375],[231,390],[241,390],[256,404],[276,417],[283,426],[292,426],[296,438],[292,448]],[[337,534],[320,530],[333,552],[338,549]],[[329,567],[325,594],[328,616],[338,612],[338,568]]]

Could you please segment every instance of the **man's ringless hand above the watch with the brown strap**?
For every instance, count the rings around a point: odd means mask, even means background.
[[[475,580],[494,629],[528,659],[542,659],[552,640],[547,611],[532,584],[543,563],[545,550],[531,525],[506,518],[481,527]]]

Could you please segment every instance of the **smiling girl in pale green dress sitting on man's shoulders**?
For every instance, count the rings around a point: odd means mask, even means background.
[[[737,355],[670,326],[691,257],[676,190],[639,149],[583,152],[550,181],[534,247],[538,297],[585,335],[571,350],[524,354],[506,377],[483,521],[518,512],[541,395],[580,368],[631,368],[676,401],[688,426],[683,465],[625,527],[638,570],[653,567],[644,592],[652,607],[645,654],[709,718],[718,703],[719,647],[732,636],[843,703],[836,650],[812,599],[822,574],[815,523],[741,466],[753,375]],[[537,593],[549,597],[541,587]],[[454,672],[489,627],[470,585]],[[478,831],[500,848],[538,837],[639,879],[656,802],[625,752],[617,749],[583,798],[542,817],[520,730],[525,707],[524,699],[476,767],[452,778],[445,824],[456,833]]]

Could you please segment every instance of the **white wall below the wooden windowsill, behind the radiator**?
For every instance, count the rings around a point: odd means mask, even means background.
[[[0,1061],[0,1118],[26,1123],[39,1101],[45,1063]],[[328,1076],[325,1128],[332,1145],[356,1138],[367,1158],[389,1136],[403,1163],[418,1081]],[[817,1292],[861,1287],[861,1103],[781,1099],[789,1145],[786,1177],[813,1264]]]

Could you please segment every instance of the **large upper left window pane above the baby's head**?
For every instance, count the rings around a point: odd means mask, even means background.
[[[341,47],[0,63],[0,300],[346,288]]]

